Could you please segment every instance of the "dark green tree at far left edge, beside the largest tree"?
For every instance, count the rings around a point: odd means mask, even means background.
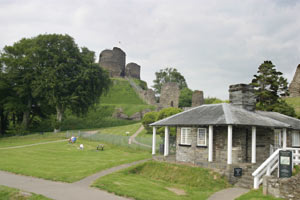
[[[9,110],[22,113],[22,127],[25,130],[34,115],[33,106],[38,105],[37,96],[34,96],[32,89],[37,78],[33,50],[34,40],[24,38],[12,46],[5,46],[1,53],[3,77],[6,77],[7,87],[13,91],[7,106],[10,107]]]

